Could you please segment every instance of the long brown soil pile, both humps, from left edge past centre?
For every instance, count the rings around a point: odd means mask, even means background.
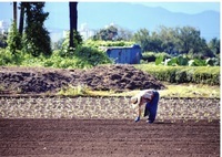
[[[57,92],[68,85],[119,92],[164,88],[155,77],[132,65],[100,65],[90,70],[0,66],[0,94]]]

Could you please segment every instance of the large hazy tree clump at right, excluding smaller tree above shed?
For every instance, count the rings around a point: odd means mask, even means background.
[[[194,57],[213,57],[220,53],[220,40],[212,39],[208,44],[201,32],[192,27],[165,28],[150,32],[140,29],[133,40],[141,45],[142,52],[167,52],[171,55],[190,54]]]

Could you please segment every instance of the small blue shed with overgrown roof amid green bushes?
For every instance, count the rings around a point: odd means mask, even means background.
[[[138,44],[132,46],[109,46],[107,54],[114,63],[120,64],[140,64],[141,48]]]

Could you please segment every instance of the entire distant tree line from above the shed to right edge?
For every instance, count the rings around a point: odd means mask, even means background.
[[[214,38],[206,42],[201,32],[193,27],[167,28],[157,31],[140,29],[132,33],[128,30],[110,25],[99,30],[91,40],[98,41],[134,41],[141,45],[142,52],[165,52],[170,55],[191,54],[199,57],[220,55],[220,40]]]

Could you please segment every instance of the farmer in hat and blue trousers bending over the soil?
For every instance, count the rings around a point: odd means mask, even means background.
[[[131,97],[131,103],[133,104],[133,106],[139,107],[135,122],[140,121],[142,105],[145,104],[144,117],[149,116],[148,123],[153,123],[157,116],[158,102],[159,93],[154,90],[144,90],[139,92],[135,96]]]

